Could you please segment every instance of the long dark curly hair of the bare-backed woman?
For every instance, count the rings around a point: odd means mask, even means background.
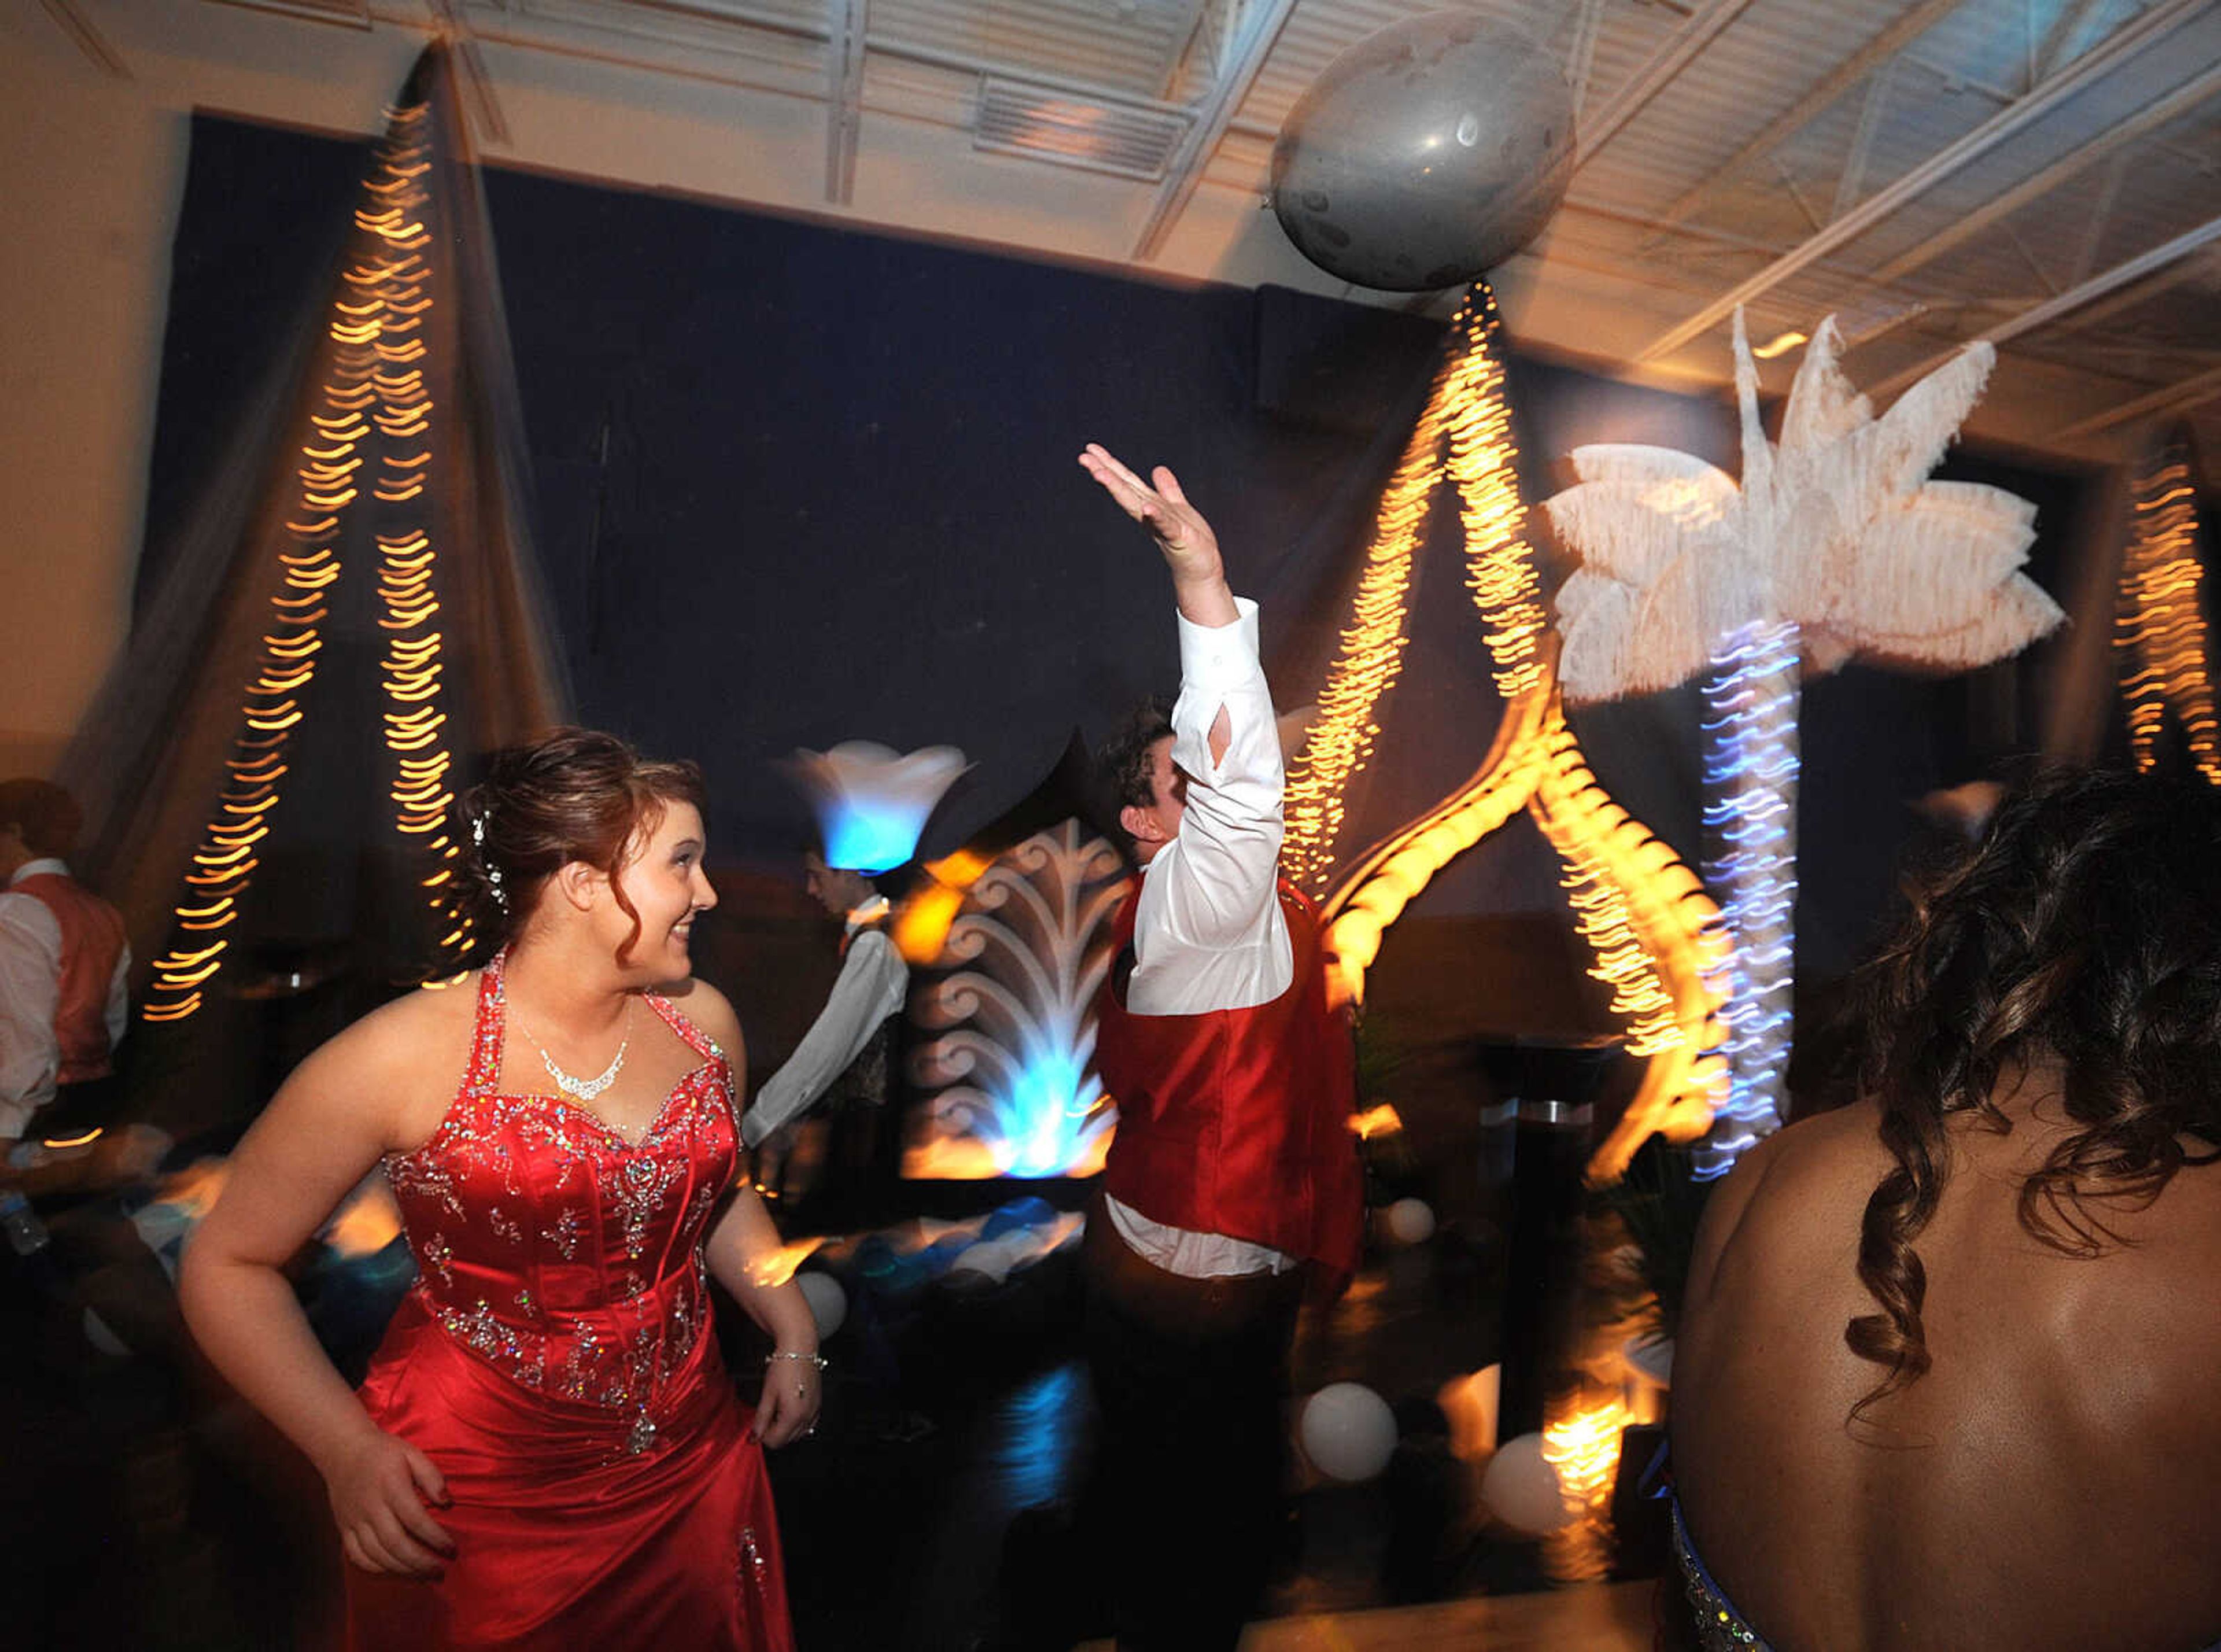
[[[1912,1248],[1950,1175],[1946,1119],[2012,1124],[1999,1084],[2057,1070],[2079,1126],[2030,1172],[2021,1228],[2070,1257],[2117,1235],[2086,1203],[2148,1206],[2221,1144],[2221,793],[2201,779],[2048,770],[1912,890],[1861,979],[1861,1081],[1897,1159],[1866,1201],[1859,1279],[1881,1312],[1843,1339],[1886,1368],[1852,1421],[1930,1366]]]

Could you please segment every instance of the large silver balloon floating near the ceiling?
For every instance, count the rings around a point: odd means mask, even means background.
[[[1366,36],[1273,147],[1273,211],[1359,286],[1455,286],[1526,246],[1572,180],[1572,93],[1508,22],[1435,11]]]

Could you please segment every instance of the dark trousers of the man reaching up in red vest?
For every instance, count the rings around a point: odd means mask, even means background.
[[[1288,1350],[1302,1275],[1182,1279],[1133,1255],[1097,1201],[1086,1352],[1104,1534],[1126,1652],[1233,1648],[1282,1523]]]

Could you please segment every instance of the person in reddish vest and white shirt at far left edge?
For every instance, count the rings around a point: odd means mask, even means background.
[[[0,1150],[11,1155],[40,1115],[87,1110],[124,1035],[124,919],[62,859],[80,824],[60,786],[0,782]]]

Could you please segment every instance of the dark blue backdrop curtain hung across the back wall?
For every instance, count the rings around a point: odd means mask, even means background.
[[[142,588],[324,269],[358,162],[349,142],[195,118]],[[806,842],[775,768],[795,746],[962,746],[977,768],[928,833],[937,850],[1026,795],[1075,724],[1097,735],[1175,682],[1164,577],[1073,462],[1086,440],[1179,469],[1235,586],[1266,608],[1277,697],[1317,691],[1426,393],[1430,324],[500,169],[486,200],[577,715],[697,757],[726,864]],[[1517,355],[1510,384],[1530,502],[1577,442],[1666,442],[1735,469],[1717,400]],[[2081,484],[1959,455],[1946,473],[2039,502],[2032,573],[2061,591]],[[1839,973],[1888,906],[1908,799],[2032,744],[2046,653],[2001,671],[2001,691],[1859,668],[1808,686],[1808,970]],[[1461,779],[1495,717],[1441,508],[1344,848]],[[1695,857],[1695,691],[1575,724],[1606,788]],[[1555,908],[1552,857],[1513,828],[1415,917]]]

